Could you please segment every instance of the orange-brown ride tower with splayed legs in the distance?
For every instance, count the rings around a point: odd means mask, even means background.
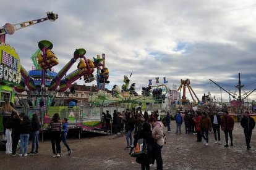
[[[190,96],[192,97],[193,102],[195,103],[196,100],[194,99],[194,96],[192,95],[192,92],[195,95],[195,98],[197,99],[197,101],[199,102],[199,99],[198,99],[197,95],[195,94],[194,90],[190,86],[190,79],[186,79],[186,80],[181,79],[181,85],[179,86],[177,91],[181,91],[181,89],[183,89],[183,95],[181,97],[182,104],[186,104],[186,103],[189,102],[189,100],[186,97],[186,87],[187,87],[187,89],[189,89],[189,93],[190,93]]]

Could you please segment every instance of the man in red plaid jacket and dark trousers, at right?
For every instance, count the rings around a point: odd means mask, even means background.
[[[233,146],[233,134],[234,129],[234,120],[231,116],[228,115],[228,111],[224,111],[224,115],[221,118],[221,131],[224,131],[226,145],[224,147],[229,147],[228,145],[228,136],[230,137],[230,145]]]

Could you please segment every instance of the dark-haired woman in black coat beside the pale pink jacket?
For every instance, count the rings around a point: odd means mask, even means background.
[[[152,147],[153,147],[154,139],[151,136],[152,136],[151,126],[149,123],[145,122],[142,125],[142,130],[137,133],[134,139],[134,147],[136,147],[136,144],[139,139],[146,140],[147,154],[140,155],[136,158],[137,163],[141,164],[142,170],[145,170],[145,169],[149,170],[150,164],[152,164],[153,162]]]

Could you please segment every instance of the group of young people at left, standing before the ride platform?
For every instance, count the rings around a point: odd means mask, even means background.
[[[30,119],[25,113],[17,113],[14,105],[6,100],[2,105],[2,113],[4,119],[2,124],[4,126],[4,137],[6,139],[6,154],[12,154],[13,156],[19,155],[27,156],[38,154],[39,148],[39,132],[40,122],[38,115],[34,113],[32,119]],[[61,141],[67,148],[68,155],[72,153],[72,150],[67,144],[67,132],[69,131],[67,119],[62,121],[59,118],[59,114],[55,113],[51,121],[49,121],[49,131],[51,144],[53,149],[53,157],[60,157]],[[31,152],[28,153],[28,140],[32,139]],[[19,153],[17,153],[18,144],[20,141]]]

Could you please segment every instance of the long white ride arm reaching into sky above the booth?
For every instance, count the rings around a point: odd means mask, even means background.
[[[53,12],[47,12],[47,17],[45,18],[40,18],[37,20],[30,20],[27,22],[21,22],[21,23],[6,23],[4,26],[0,28],[0,42],[5,41],[5,34],[14,34],[16,30],[20,30],[22,28],[26,28],[28,26],[35,25],[36,23],[44,22],[46,20],[50,20],[54,22],[55,20],[58,19],[58,14],[55,14]]]

